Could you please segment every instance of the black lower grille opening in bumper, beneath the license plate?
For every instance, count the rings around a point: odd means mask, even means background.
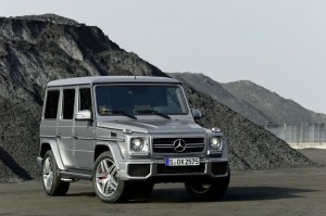
[[[158,174],[203,174],[205,164],[199,166],[165,166],[158,164]]]

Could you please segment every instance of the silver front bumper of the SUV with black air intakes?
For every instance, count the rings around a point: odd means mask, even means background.
[[[153,180],[155,182],[178,182],[193,178],[224,178],[228,176],[228,161],[223,158],[200,158],[199,166],[165,166],[164,160],[121,161],[117,170],[123,181]]]

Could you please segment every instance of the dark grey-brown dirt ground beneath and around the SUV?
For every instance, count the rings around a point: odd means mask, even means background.
[[[156,185],[148,199],[121,204],[100,202],[87,181],[66,196],[49,198],[40,181],[0,183],[0,215],[326,215],[326,151],[302,150],[323,166],[233,171],[223,200],[197,202],[181,183]]]

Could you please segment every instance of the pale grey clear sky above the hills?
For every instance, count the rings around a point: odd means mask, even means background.
[[[0,16],[98,26],[163,72],[251,80],[326,114],[325,0],[0,0]]]

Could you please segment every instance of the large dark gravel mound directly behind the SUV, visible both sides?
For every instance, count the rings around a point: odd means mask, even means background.
[[[49,18],[50,17],[50,18]],[[39,118],[48,81],[93,75],[167,76],[112,42],[98,27],[53,14],[0,18],[0,181],[39,176]],[[287,143],[227,106],[187,87],[205,127],[220,126],[238,169],[310,166]]]

